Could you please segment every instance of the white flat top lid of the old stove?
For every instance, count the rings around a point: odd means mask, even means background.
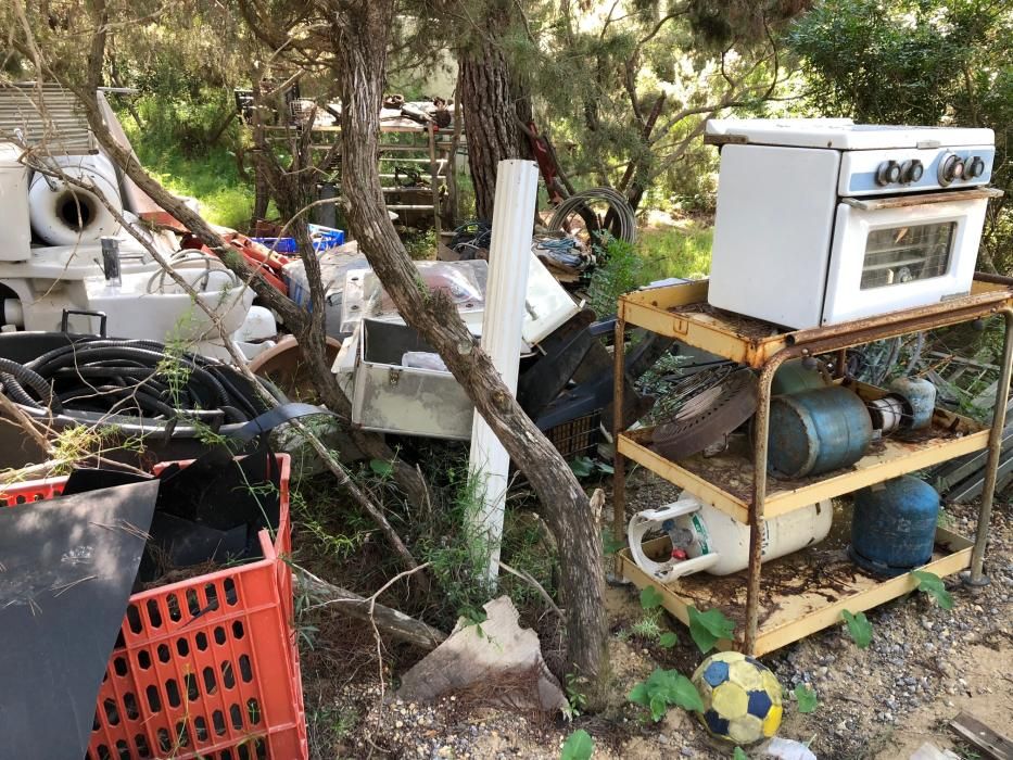
[[[991,129],[853,124],[849,118],[716,118],[706,130],[743,137],[754,144],[835,150],[991,145],[996,139]]]

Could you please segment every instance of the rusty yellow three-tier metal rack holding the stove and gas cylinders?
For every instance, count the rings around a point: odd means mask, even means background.
[[[910,574],[877,580],[846,561],[828,562],[806,548],[762,566],[764,520],[815,502],[913,472],[971,452],[988,449],[985,491],[978,511],[975,541],[939,529],[936,553],[926,570],[948,575],[967,568],[968,582],[983,581],[983,560],[988,537],[996,472],[1005,423],[1011,359],[1013,359],[1013,280],[978,275],[968,295],[922,308],[894,312],[813,330],[784,332],[758,320],[712,309],[707,304],[707,281],[654,288],[622,296],[616,325],[616,474],[612,529],[625,535],[625,466],[632,460],[666,480],[686,489],[732,519],[749,525],[749,567],[722,578],[688,575],[662,584],[641,570],[628,549],[619,553],[618,571],[636,586],[655,586],[672,615],[688,623],[688,608],[722,609],[736,625],[736,638],[725,647],[763,655],[798,641],[840,620],[845,609],[857,612],[913,591]],[[984,317],[1005,319],[1003,358],[997,383],[990,428],[937,409],[933,426],[916,439],[891,438],[878,442],[853,467],[822,477],[793,481],[767,477],[767,440],[770,421],[771,381],[786,360],[836,353],[843,370],[847,349],[886,338],[929,330]],[[717,457],[688,457],[678,463],[645,445],[649,430],[626,431],[622,419],[624,335],[628,326],[642,327],[689,346],[748,365],[759,371],[759,403],[751,451],[745,447]],[[840,372],[843,373],[843,371]],[[875,397],[883,391],[857,385],[860,395]],[[646,505],[645,505],[646,506]],[[650,505],[657,506],[657,505]],[[658,539],[647,550],[662,554],[668,539]],[[763,583],[763,574],[768,582]],[[740,623],[740,624],[739,624]]]

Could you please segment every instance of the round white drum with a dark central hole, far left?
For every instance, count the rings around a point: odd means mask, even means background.
[[[31,229],[49,245],[91,243],[115,236],[119,223],[99,199],[123,211],[116,169],[103,155],[65,156],[56,160],[67,177],[91,183],[86,190],[58,177],[36,173],[28,189]]]

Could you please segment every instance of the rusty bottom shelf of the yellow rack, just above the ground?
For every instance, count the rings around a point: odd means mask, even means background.
[[[759,599],[759,630],[754,654],[757,656],[805,638],[816,631],[841,622],[840,612],[859,612],[903,596],[917,586],[904,573],[891,579],[863,573],[848,559],[848,507],[835,509],[831,534],[820,544],[763,563],[763,584]],[[972,542],[938,529],[932,561],[923,570],[940,578],[966,569],[971,563]],[[671,544],[667,537],[645,544],[648,554],[663,557]],[[719,644],[721,649],[742,649],[746,630],[746,570],[731,575],[706,572],[687,575],[663,584],[641,570],[629,549],[620,553],[623,578],[637,588],[654,586],[661,593],[662,606],[689,623],[689,607],[720,609],[735,623],[735,641]]]

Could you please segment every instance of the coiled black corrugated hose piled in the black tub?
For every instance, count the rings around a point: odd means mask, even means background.
[[[153,419],[219,411],[228,423],[266,409],[236,370],[148,340],[80,338],[27,364],[0,358],[2,392],[55,414],[137,414]]]

